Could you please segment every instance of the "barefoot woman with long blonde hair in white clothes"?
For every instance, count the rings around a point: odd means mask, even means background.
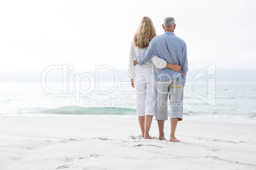
[[[136,114],[138,115],[139,126],[141,128],[141,137],[152,139],[149,134],[153,115],[155,114],[155,94],[156,94],[156,78],[155,67],[164,69],[168,67],[175,71],[180,71],[180,65],[172,65],[160,59],[158,56],[153,56],[152,60],[143,64],[135,65],[136,60],[142,55],[150,40],[157,36],[152,20],[148,16],[144,16],[139,23],[139,27],[134,34],[134,39],[131,43],[129,56],[129,74],[131,76],[132,88],[136,91]]]

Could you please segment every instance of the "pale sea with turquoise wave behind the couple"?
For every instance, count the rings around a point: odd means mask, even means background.
[[[1,82],[0,114],[136,117],[136,93],[124,82]],[[188,82],[183,121],[255,124],[256,82]]]

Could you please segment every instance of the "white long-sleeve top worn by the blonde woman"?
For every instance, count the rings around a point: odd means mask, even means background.
[[[143,65],[134,65],[134,60],[137,60],[137,58],[141,56],[145,51],[146,48],[138,48],[137,46],[134,46],[134,44],[131,43],[128,66],[128,73],[131,79],[134,79],[134,76],[140,73],[147,75],[155,74],[155,67],[157,67],[157,69],[164,69],[166,67],[167,62],[156,55],[154,55],[151,60],[149,60]]]

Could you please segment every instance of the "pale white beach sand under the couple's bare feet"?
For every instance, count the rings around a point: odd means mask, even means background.
[[[169,120],[144,140],[135,116],[0,115],[0,169],[256,169],[255,130],[184,120],[174,143]]]

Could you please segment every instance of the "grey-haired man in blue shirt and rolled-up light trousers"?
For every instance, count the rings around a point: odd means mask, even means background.
[[[162,28],[164,34],[153,37],[143,55],[134,62],[143,65],[154,55],[168,63],[181,66],[180,72],[164,68],[157,69],[157,106],[155,119],[159,126],[159,140],[164,139],[164,121],[168,119],[167,98],[171,105],[171,134],[169,141],[180,141],[175,137],[178,121],[183,119],[183,87],[188,71],[187,46],[185,41],[174,35],[176,27],[173,17],[166,17]]]

